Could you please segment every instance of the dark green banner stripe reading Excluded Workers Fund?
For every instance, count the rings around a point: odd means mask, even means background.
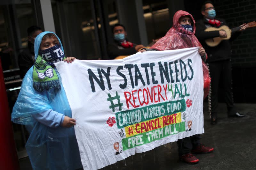
[[[121,129],[135,123],[155,119],[164,115],[184,112],[185,110],[185,99],[158,103],[133,110],[126,110],[116,113],[117,127]]]

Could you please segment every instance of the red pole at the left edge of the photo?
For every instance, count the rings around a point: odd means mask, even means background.
[[[0,58],[0,169],[19,170],[19,159],[13,137],[11,114],[4,85]]]

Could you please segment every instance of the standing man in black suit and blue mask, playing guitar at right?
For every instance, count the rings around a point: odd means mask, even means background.
[[[232,78],[231,78],[231,45],[230,41],[234,40],[239,33],[232,33],[229,40],[221,41],[219,45],[210,47],[205,43],[206,39],[215,37],[226,38],[227,33],[220,31],[204,31],[207,27],[220,27],[227,25],[224,19],[215,18],[216,12],[211,1],[206,1],[201,8],[201,14],[204,16],[196,22],[196,37],[201,42],[202,46],[208,55],[207,63],[209,64],[211,76],[211,89],[208,95],[209,112],[211,124],[217,123],[217,107],[218,107],[218,85],[223,82],[225,88],[225,101],[228,107],[228,117],[243,117],[237,112],[233,103],[232,94]],[[247,28],[245,24],[240,26],[239,31]]]

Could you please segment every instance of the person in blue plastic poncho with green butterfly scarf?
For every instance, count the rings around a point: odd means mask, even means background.
[[[61,77],[53,63],[71,63],[55,33],[40,33],[35,40],[36,62],[25,75],[13,107],[12,122],[30,131],[26,150],[33,169],[82,167],[71,109]]]

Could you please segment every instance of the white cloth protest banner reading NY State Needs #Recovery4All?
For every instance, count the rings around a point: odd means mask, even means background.
[[[204,133],[198,48],[56,63],[84,169]]]

